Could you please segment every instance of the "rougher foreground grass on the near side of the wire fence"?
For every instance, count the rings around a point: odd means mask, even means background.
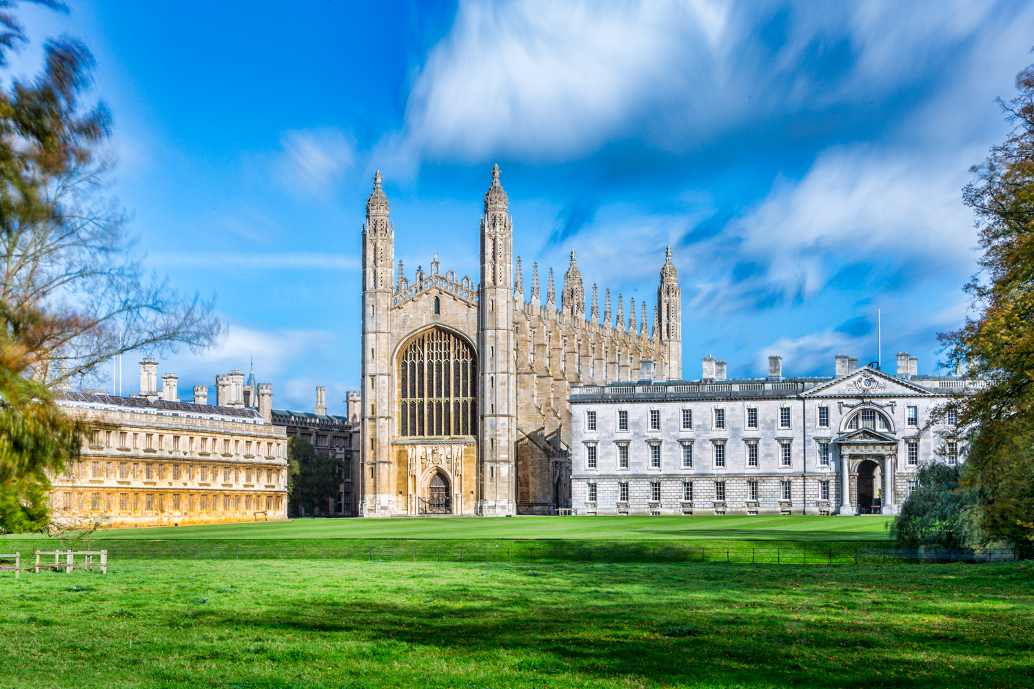
[[[1034,686],[1029,564],[156,560],[0,576],[0,687]]]

